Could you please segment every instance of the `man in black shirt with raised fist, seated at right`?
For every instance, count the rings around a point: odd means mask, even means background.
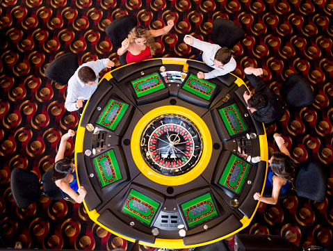
[[[253,118],[264,124],[280,120],[284,115],[284,109],[277,102],[274,92],[259,79],[259,75],[263,74],[263,70],[261,68],[246,67],[244,72],[254,87],[254,95],[247,91],[243,95],[247,109],[251,111]]]

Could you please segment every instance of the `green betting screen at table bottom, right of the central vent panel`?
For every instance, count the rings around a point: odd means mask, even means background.
[[[210,193],[181,204],[181,209],[184,212],[188,227],[193,227],[218,215]]]

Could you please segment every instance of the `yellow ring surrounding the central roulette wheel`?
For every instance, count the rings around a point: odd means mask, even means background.
[[[149,168],[147,163],[143,160],[143,156],[141,155],[140,151],[140,138],[143,133],[147,124],[154,120],[154,118],[159,117],[160,115],[165,114],[175,114],[175,115],[182,115],[185,118],[188,118],[192,121],[197,129],[199,129],[200,133],[202,134],[202,155],[200,160],[197,162],[195,167],[186,172],[184,175],[179,176],[166,176],[161,175],[159,172],[152,170]],[[206,166],[208,165],[211,159],[211,152],[212,152],[212,140],[211,140],[211,133],[209,132],[206,123],[202,118],[200,118],[196,113],[190,111],[188,108],[184,108],[181,106],[160,106],[159,108],[155,108],[152,111],[149,111],[147,114],[143,116],[136,124],[136,127],[133,130],[132,138],[131,138],[131,152],[136,163],[136,166],[140,170],[140,172],[145,175],[148,179],[165,186],[179,186],[182,184],[186,184],[193,179],[197,178],[199,175],[202,174]]]

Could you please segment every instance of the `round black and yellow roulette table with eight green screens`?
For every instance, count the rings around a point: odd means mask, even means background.
[[[250,224],[266,180],[266,133],[247,111],[243,81],[197,79],[210,70],[163,58],[101,79],[75,143],[84,205],[98,225],[156,248],[190,248]]]

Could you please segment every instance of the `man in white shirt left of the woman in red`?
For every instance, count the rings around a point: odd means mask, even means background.
[[[81,65],[68,81],[65,107],[67,111],[82,113],[83,103],[88,100],[97,89],[98,75],[105,67],[115,66],[108,58],[91,61]]]

